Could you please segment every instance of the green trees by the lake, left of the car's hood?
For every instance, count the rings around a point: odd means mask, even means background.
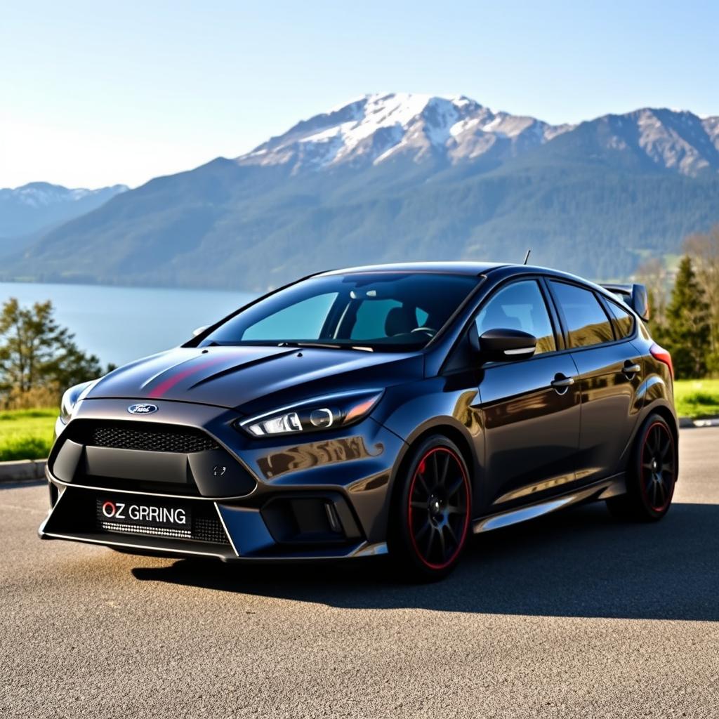
[[[0,407],[52,407],[63,391],[114,369],[75,344],[55,319],[52,303],[22,307],[10,298],[0,313]]]

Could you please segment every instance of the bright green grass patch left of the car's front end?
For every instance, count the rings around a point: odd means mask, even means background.
[[[57,416],[57,409],[0,411],[0,462],[47,457]]]

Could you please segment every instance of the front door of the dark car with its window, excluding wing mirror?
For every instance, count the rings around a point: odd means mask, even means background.
[[[536,279],[515,280],[495,290],[475,318],[480,336],[506,328],[538,339],[533,357],[490,362],[480,373],[487,508],[526,503],[574,482],[580,441],[577,368],[569,352],[560,351],[559,323],[545,291]]]

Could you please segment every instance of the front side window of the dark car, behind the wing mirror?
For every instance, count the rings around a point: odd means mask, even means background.
[[[482,307],[475,322],[480,336],[488,329],[521,329],[537,338],[535,354],[557,349],[544,297],[535,280],[500,289]]]

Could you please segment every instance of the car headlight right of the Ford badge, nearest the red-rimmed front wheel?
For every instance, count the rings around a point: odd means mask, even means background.
[[[382,390],[326,395],[249,417],[239,426],[254,437],[344,427],[366,417],[380,397]]]

